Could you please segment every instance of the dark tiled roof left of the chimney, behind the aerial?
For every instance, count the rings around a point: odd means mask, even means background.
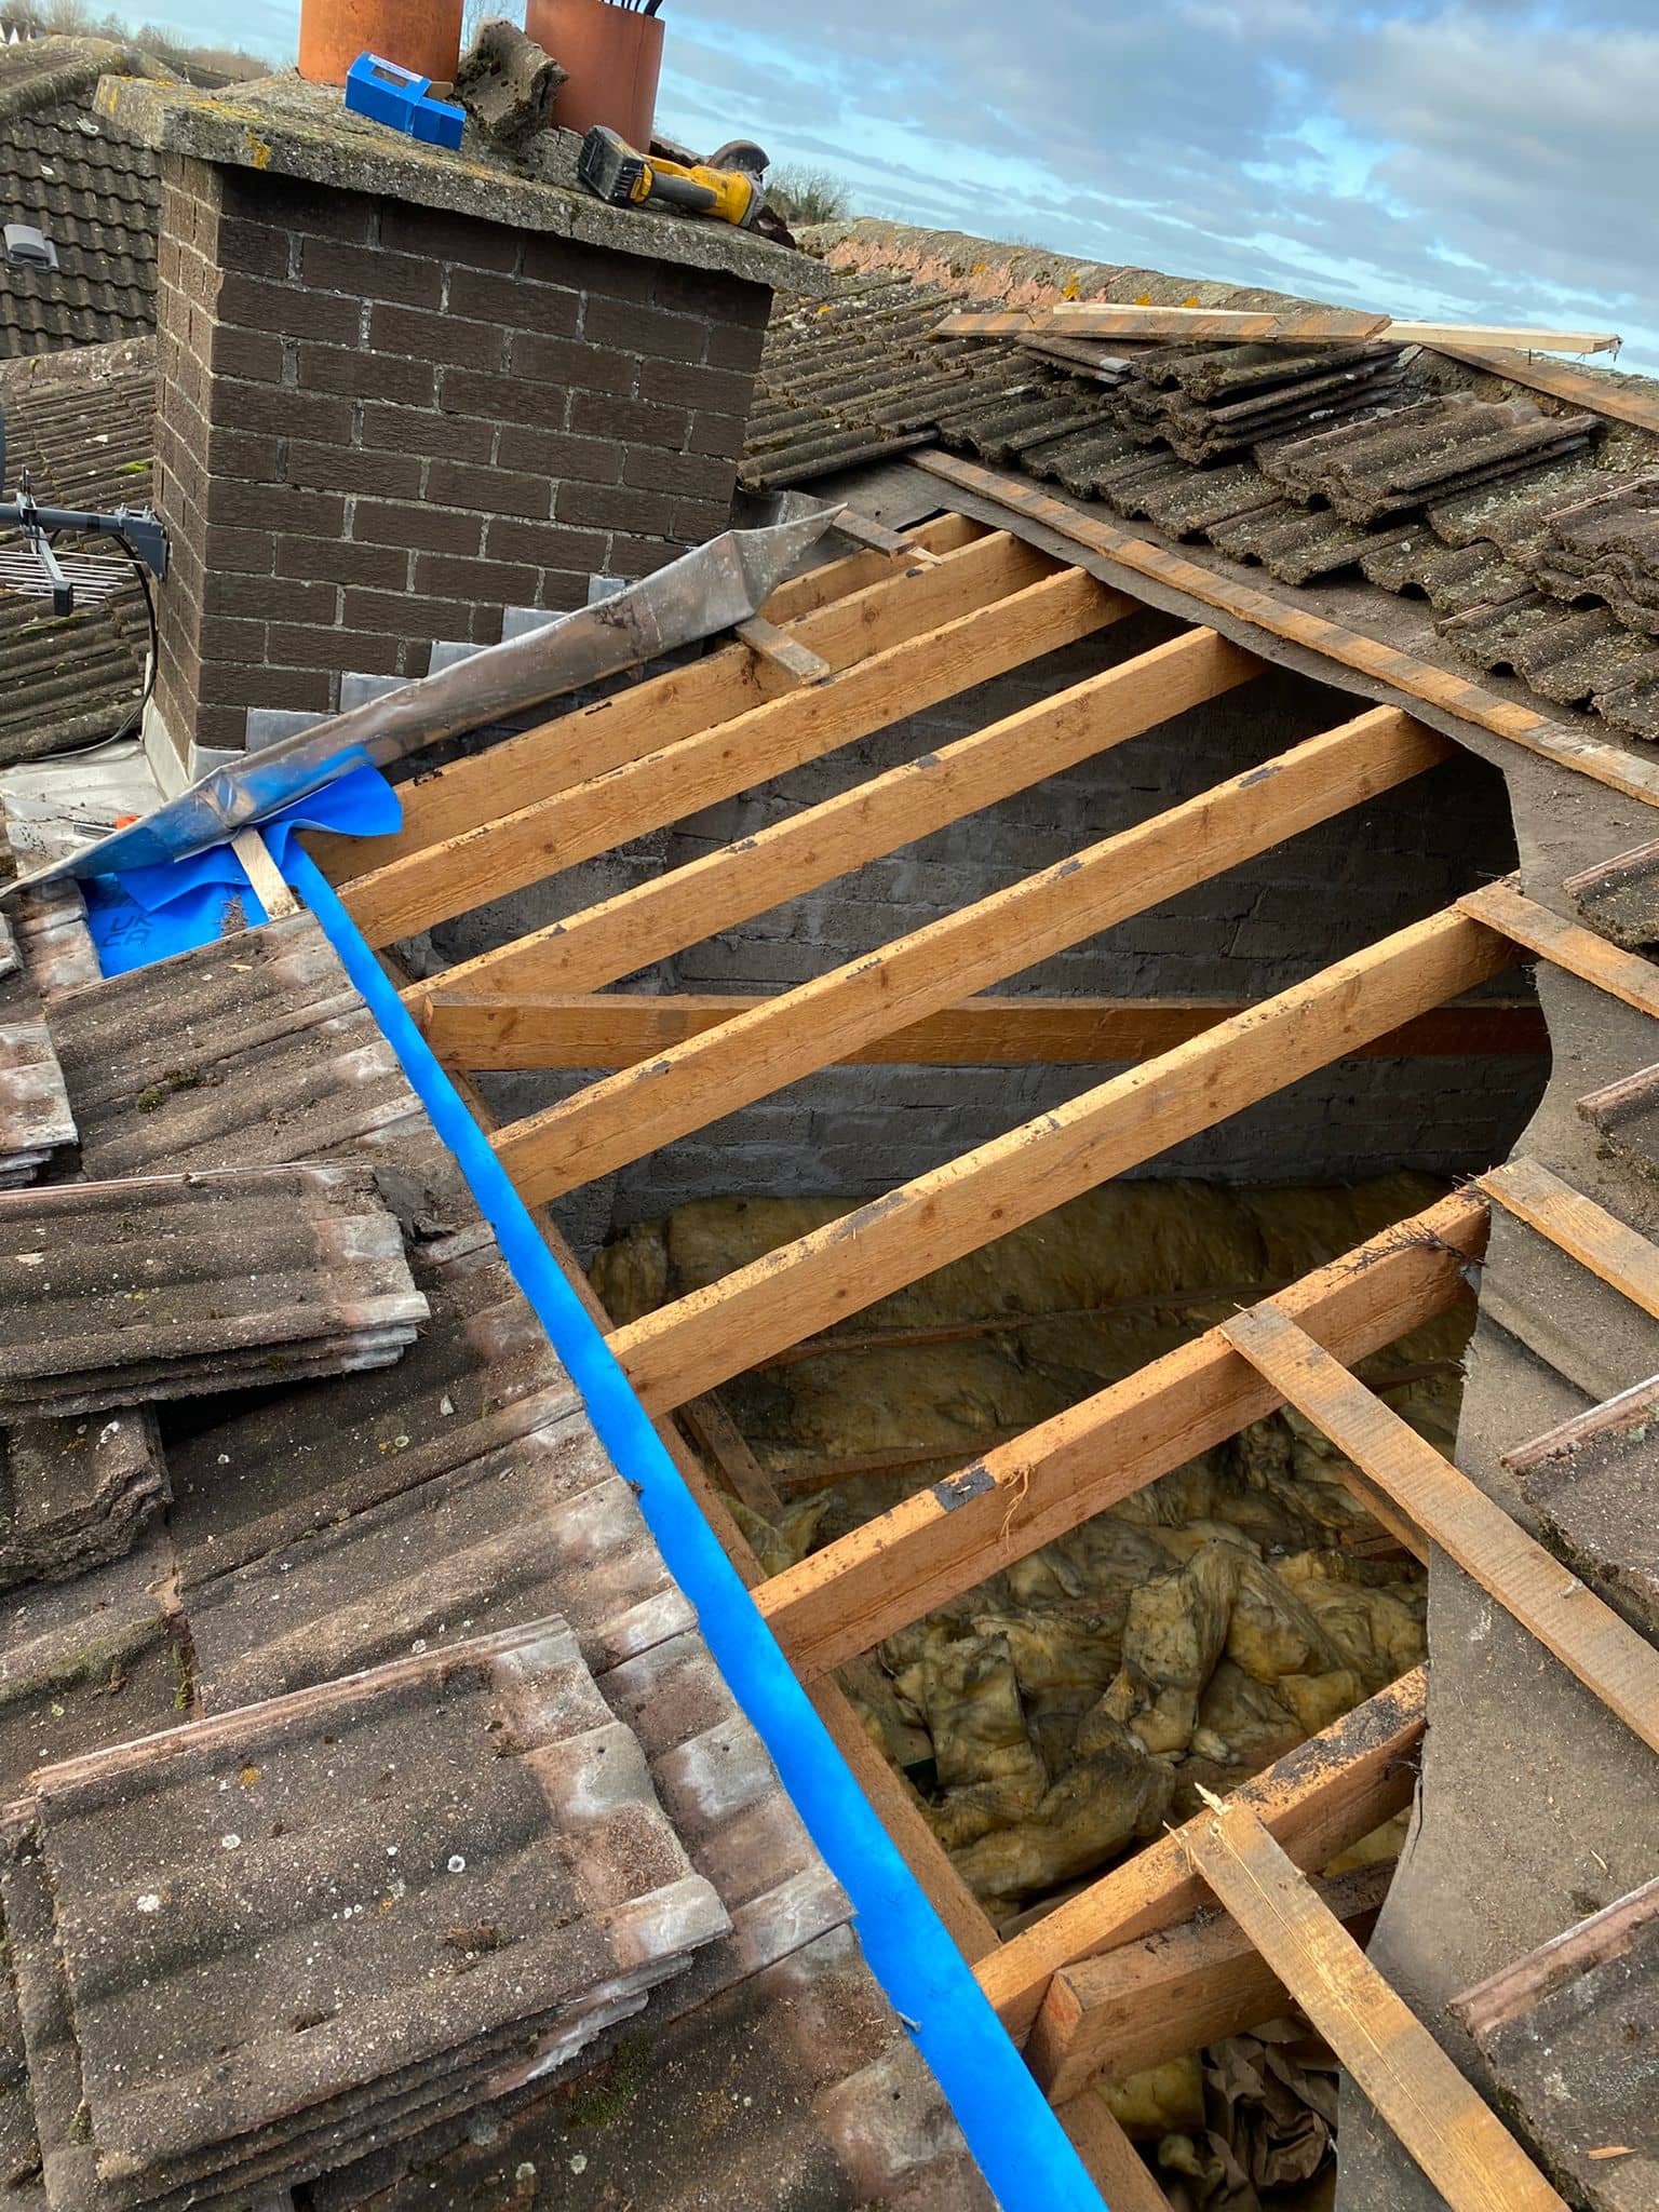
[[[7,498],[29,469],[42,504],[148,504],[155,338],[0,361],[0,414]],[[15,546],[0,531],[7,542]],[[111,557],[113,546],[88,540],[86,551]],[[0,591],[0,768],[95,745],[133,723],[148,641],[137,582],[102,606],[82,602],[69,619],[42,599]]]

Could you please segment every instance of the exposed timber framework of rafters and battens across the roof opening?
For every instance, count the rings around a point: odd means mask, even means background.
[[[942,456],[927,462],[938,462],[940,476],[991,476]],[[1031,500],[1062,504],[1037,493]],[[1212,595],[1221,591],[1223,580],[1210,571],[1075,511],[1066,524],[1075,542],[1084,544],[1082,524],[1099,533],[1088,538],[1091,553],[1104,553],[1110,540],[1115,568],[1110,582],[1068,568],[1053,551],[1018,538],[1020,518],[1009,504],[1013,531],[947,515],[916,533],[931,553],[927,562],[905,566],[909,555],[863,551],[785,586],[790,597],[774,599],[765,622],[785,646],[816,655],[830,668],[825,677],[803,672],[799,655],[763,635],[425,779],[411,790],[405,832],[385,841],[367,874],[343,883],[347,907],[372,936],[398,936],[411,914],[465,911],[641,827],[677,821],[726,785],[741,790],[779,765],[834,752],[969,688],[987,670],[1020,666],[1119,619],[1141,566],[1164,584],[1166,564],[1192,568]],[[1044,529],[1051,540],[1066,535],[1048,515]],[[1183,588],[1192,591],[1192,577]],[[1263,633],[1272,628],[1263,611],[1279,624],[1287,619],[1265,595],[1228,586],[1228,619],[1254,619]],[[1237,599],[1263,606],[1252,613]],[[1334,666],[1407,697],[1420,686],[1440,723],[1458,714],[1626,796],[1659,803],[1659,772],[1648,763],[1321,617],[1294,619],[1296,641]],[[1091,2084],[1102,2066],[1146,2057],[1179,2037],[1170,1991],[1190,1989],[1206,2020],[1237,2026],[1252,2024],[1252,2013],[1263,2017],[1254,2006],[1274,2008],[1290,1991],[1458,2212],[1489,2212],[1498,2201],[1544,2212],[1559,2203],[1555,2192],[1345,1933],[1345,1922],[1365,1929],[1378,1878],[1336,1889],[1307,1880],[1411,1801],[1420,1674],[1356,1708],[1245,1783],[1228,1807],[1199,1814],[1009,1942],[998,1942],[874,1752],[836,1674],[867,1666],[863,1655],[878,1641],[989,1573],[1252,1420],[1296,1405],[1347,1455],[1356,1495],[1402,1542],[1420,1553],[1431,1542],[1447,1548],[1644,1743],[1659,1747],[1659,1657],[1590,1593],[1566,1588],[1566,1571],[1349,1371],[1467,1296],[1491,1206],[1515,1212],[1659,1312],[1659,1254],[1644,1239],[1566,1186],[1495,1170],[1480,1188],[1385,1230],[772,1577],[675,1422],[686,1422],[734,1491],[770,1511],[768,1478],[712,1396],[723,1380],[1334,1060],[1389,1046],[1453,1048],[1451,1040],[1480,1033],[1511,1037],[1491,1048],[1528,1048],[1515,1029],[1520,1009],[1458,1004],[1520,958],[1548,960],[1659,1013],[1659,969],[1537,907],[1513,883],[1489,885],[1252,1006],[1172,1013],[1168,1002],[1091,1002],[1079,1015],[1075,1002],[975,998],[1051,951],[1447,759],[1449,739],[1400,706],[1360,712],[1055,869],[776,998],[606,995],[608,984],[712,929],[1130,741],[1250,681],[1259,668],[1261,655],[1248,644],[1190,628],[757,838],[411,982],[405,995],[460,1071],[615,1068],[566,1104],[493,1133],[531,1203],[847,1060],[902,1057],[925,1046],[951,1064],[984,1053],[995,1035],[1004,1057],[1035,1040],[1040,1051],[1029,1057],[1137,1062],[1055,1113],[611,1329],[611,1347],[812,1688],[821,1719],[975,1962],[987,1997],[1026,2044],[1033,2070],[1115,2203],[1159,2212],[1164,2199]],[[522,801],[511,814],[498,812],[504,792]],[[458,856],[462,876],[451,878],[445,872]],[[343,876],[343,852],[330,852],[327,865]],[[1436,1035],[1447,1042],[1429,1042]],[[1533,1044],[1537,1035],[1535,1026],[1526,1031]],[[595,1055],[595,1037],[606,1040],[604,1055]],[[557,1250],[555,1232],[546,1234]],[[575,1270],[568,1252],[564,1261]],[[1214,1916],[1217,1900],[1230,1918]],[[1128,1947],[1146,1938],[1159,1938],[1159,1947],[1130,1960]],[[1137,2011],[1133,2046],[1121,2042],[1126,1975],[1150,2006]],[[1385,2035],[1385,2062],[1365,2059],[1367,2035]],[[1447,2139],[1455,2139],[1449,2154]],[[1486,2185],[1482,2174],[1498,2181]],[[1509,2194],[1493,2197],[1491,2188]]]

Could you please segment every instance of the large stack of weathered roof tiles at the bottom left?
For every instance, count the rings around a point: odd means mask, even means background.
[[[0,1896],[86,2212],[246,2203],[465,2108],[728,1927],[562,1621],[49,1767],[29,1814]]]

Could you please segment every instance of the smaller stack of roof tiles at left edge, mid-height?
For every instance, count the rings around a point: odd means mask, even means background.
[[[429,1316],[374,1177],[349,1166],[7,1192],[0,1279],[13,1420],[385,1367]]]

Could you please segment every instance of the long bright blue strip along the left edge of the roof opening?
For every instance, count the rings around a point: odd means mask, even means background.
[[[646,1522],[697,1606],[721,1674],[761,1734],[812,1840],[854,1900],[869,1969],[933,2070],[998,2203],[1004,2212],[1102,2212],[1099,2190],[1055,2112],[834,1747],[484,1133],[316,863],[290,847],[285,874],[456,1155],[604,1447],[637,1484]]]

